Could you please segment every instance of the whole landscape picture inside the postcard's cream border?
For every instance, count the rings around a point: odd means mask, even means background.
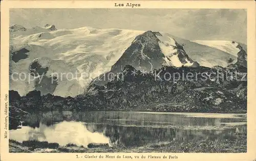
[[[134,7],[10,9],[10,153],[247,152],[247,10]]]

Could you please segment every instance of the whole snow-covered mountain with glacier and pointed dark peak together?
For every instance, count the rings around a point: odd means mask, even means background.
[[[198,63],[212,67],[227,66],[229,58],[237,57],[167,33],[90,27],[57,30],[48,24],[10,27],[10,89],[20,95],[36,89],[42,94],[75,96],[92,78],[119,71],[127,63],[146,70]],[[26,79],[20,81],[15,73],[26,73]]]

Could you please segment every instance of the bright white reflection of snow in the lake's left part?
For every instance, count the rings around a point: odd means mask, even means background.
[[[82,122],[63,121],[52,126],[40,124],[39,128],[23,126],[21,129],[10,130],[10,139],[22,142],[27,140],[47,141],[67,145],[87,146],[90,143],[109,143],[102,133],[90,132]]]

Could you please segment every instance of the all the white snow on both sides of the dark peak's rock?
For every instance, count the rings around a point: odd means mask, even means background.
[[[54,25],[25,29],[23,26],[14,25],[10,28],[10,56],[22,48],[26,48],[29,52],[26,53],[28,55],[26,59],[20,59],[16,63],[10,58],[10,74],[15,73],[10,76],[10,90],[26,95],[35,89],[36,82],[29,80],[29,77],[34,79],[29,73],[31,65],[36,62],[40,70],[47,70],[48,78],[53,75],[58,77],[52,94],[59,96],[81,94],[92,78],[110,71],[112,65],[118,61],[135,37],[144,32],[90,27],[57,30]],[[188,57],[201,66],[226,66],[228,64],[226,60],[236,59],[236,53],[239,51],[234,47],[224,50],[223,47],[212,45],[209,47],[201,45],[202,42],[191,42],[166,33],[163,35],[165,36],[158,36],[162,42],[159,46],[166,56],[164,59],[167,65],[177,67],[184,65],[176,55],[173,55],[177,50],[174,48],[175,41],[184,44],[183,48]],[[143,52],[141,54],[143,55]],[[146,55],[143,56],[146,58]],[[186,61],[185,65],[190,66],[191,62]],[[27,73],[26,79],[23,76],[25,80],[20,81],[17,73]],[[38,89],[49,86],[50,80],[45,78],[44,81],[45,84],[37,86]]]

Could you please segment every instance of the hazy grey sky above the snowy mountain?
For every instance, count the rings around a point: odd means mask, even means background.
[[[246,14],[243,9],[11,9],[10,25],[152,30],[187,40],[232,40],[247,44]]]

